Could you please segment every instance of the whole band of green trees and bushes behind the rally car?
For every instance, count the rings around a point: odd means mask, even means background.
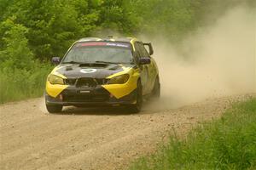
[[[45,77],[44,63],[81,37],[143,34],[178,42],[237,3],[256,7],[253,0],[0,0],[0,88],[17,75]]]

